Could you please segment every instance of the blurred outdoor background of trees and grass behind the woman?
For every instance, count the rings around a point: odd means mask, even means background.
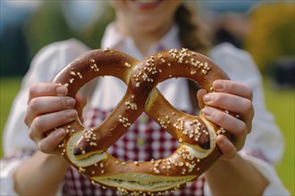
[[[98,0],[1,0],[0,3],[2,136],[13,98],[21,86],[21,78],[38,50],[51,42],[71,37],[98,48],[106,24],[114,19],[114,12],[106,1]],[[227,29],[232,33],[232,37],[227,37],[228,41],[249,51],[257,62],[264,79],[266,106],[273,112],[286,142],[277,171],[283,184],[294,195],[294,1],[219,0],[190,3],[198,5],[208,36],[220,29]],[[216,35],[225,39],[224,32],[219,33]],[[214,41],[217,42],[217,38]],[[1,148],[0,158],[3,156]]]

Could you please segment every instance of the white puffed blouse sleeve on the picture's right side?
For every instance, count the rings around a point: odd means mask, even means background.
[[[264,195],[288,195],[274,169],[274,165],[282,158],[284,140],[274,116],[265,107],[262,78],[256,63],[249,53],[229,43],[216,45],[210,56],[232,80],[249,85],[253,90],[255,115],[252,131],[240,155],[248,159],[268,180]]]

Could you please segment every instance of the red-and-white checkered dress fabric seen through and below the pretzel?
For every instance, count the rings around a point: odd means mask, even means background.
[[[97,109],[89,110],[85,118],[85,127],[95,127],[108,116],[110,112]],[[149,161],[150,159],[161,159],[176,151],[179,143],[155,121],[142,114],[140,118],[129,128],[108,152],[117,159],[127,161],[139,160]],[[104,189],[101,185],[93,185],[91,181],[74,169],[70,168],[64,178],[64,195],[117,195],[112,189]],[[171,195],[204,195],[204,177]]]

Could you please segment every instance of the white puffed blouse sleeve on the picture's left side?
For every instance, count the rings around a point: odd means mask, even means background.
[[[30,69],[21,82],[4,127],[1,159],[1,195],[13,195],[13,171],[36,151],[36,145],[29,138],[29,128],[24,123],[30,86],[38,82],[50,82],[55,74],[89,48],[78,40],[69,39],[47,45],[31,62]]]

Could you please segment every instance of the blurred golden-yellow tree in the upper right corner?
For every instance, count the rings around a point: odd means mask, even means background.
[[[295,55],[294,3],[265,3],[249,13],[253,29],[245,40],[260,70],[282,56]]]

